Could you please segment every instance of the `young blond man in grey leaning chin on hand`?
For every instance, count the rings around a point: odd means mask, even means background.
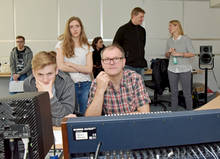
[[[56,53],[41,51],[32,60],[32,71],[24,81],[24,92],[48,92],[53,126],[60,126],[63,117],[76,117],[75,87],[72,79],[58,71]]]

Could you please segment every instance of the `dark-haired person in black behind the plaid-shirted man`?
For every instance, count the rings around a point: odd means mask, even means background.
[[[101,51],[105,48],[105,45],[103,45],[102,37],[95,37],[92,41],[92,47],[93,47],[93,76],[96,78],[96,76],[99,74],[99,72],[103,71],[102,64],[101,64]]]

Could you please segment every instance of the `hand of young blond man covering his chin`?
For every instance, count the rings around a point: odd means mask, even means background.
[[[39,80],[36,80],[36,88],[38,92],[48,92],[50,98],[53,98],[53,92],[52,92],[53,82],[54,81],[51,80],[49,84],[44,84],[40,82]]]

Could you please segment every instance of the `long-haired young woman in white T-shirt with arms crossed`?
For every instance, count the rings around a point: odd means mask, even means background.
[[[68,72],[75,82],[79,111],[84,114],[91,86],[90,74],[92,73],[93,62],[92,48],[88,43],[80,18],[69,18],[59,40],[56,45],[58,68]]]

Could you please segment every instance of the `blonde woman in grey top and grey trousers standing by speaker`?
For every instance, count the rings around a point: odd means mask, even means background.
[[[191,60],[194,56],[192,41],[185,36],[178,20],[169,22],[171,37],[167,40],[165,56],[169,58],[168,77],[171,89],[171,107],[178,105],[178,82],[180,81],[185,97],[186,109],[192,110]]]

